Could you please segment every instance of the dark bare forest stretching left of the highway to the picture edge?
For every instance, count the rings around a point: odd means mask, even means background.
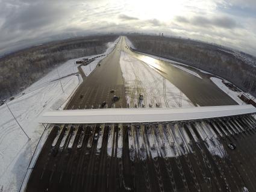
[[[0,100],[24,90],[72,58],[102,54],[115,35],[88,36],[46,43],[0,58]]]

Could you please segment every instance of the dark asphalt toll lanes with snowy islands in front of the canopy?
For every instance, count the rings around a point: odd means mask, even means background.
[[[255,191],[255,130],[251,116],[55,125],[26,191]]]

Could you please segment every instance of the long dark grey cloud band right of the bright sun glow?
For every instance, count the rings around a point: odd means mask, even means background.
[[[219,27],[219,28],[226,28],[226,29],[233,29],[238,27],[235,20],[229,17],[203,17],[203,16],[194,16],[191,19],[187,19],[183,16],[175,17],[176,22],[178,23],[190,23],[191,25],[195,26],[202,26],[202,27]]]

